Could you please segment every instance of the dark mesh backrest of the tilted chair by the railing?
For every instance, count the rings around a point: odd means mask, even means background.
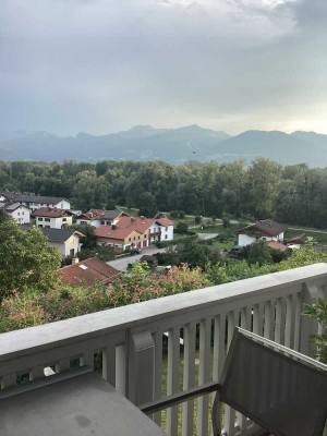
[[[327,365],[237,327],[219,400],[275,436],[322,436]]]

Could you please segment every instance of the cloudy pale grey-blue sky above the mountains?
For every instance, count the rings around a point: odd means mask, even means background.
[[[326,0],[1,0],[0,130],[327,134]]]

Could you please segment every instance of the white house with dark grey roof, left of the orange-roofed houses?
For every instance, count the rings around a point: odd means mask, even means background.
[[[40,228],[48,238],[49,245],[57,249],[62,257],[74,256],[81,251],[81,238],[84,234],[76,230]]]

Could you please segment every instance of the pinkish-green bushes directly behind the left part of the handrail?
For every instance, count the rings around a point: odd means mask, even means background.
[[[66,319],[105,308],[137,303],[165,295],[204,288],[210,282],[198,268],[186,265],[169,275],[149,274],[146,263],[133,264],[129,272],[109,287],[64,286],[51,292],[11,294],[0,306],[0,332]]]

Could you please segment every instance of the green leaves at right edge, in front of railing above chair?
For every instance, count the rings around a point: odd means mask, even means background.
[[[304,304],[303,315],[315,319],[320,328],[320,335],[313,335],[311,341],[315,348],[315,358],[327,364],[327,303],[320,296],[315,304]]]

